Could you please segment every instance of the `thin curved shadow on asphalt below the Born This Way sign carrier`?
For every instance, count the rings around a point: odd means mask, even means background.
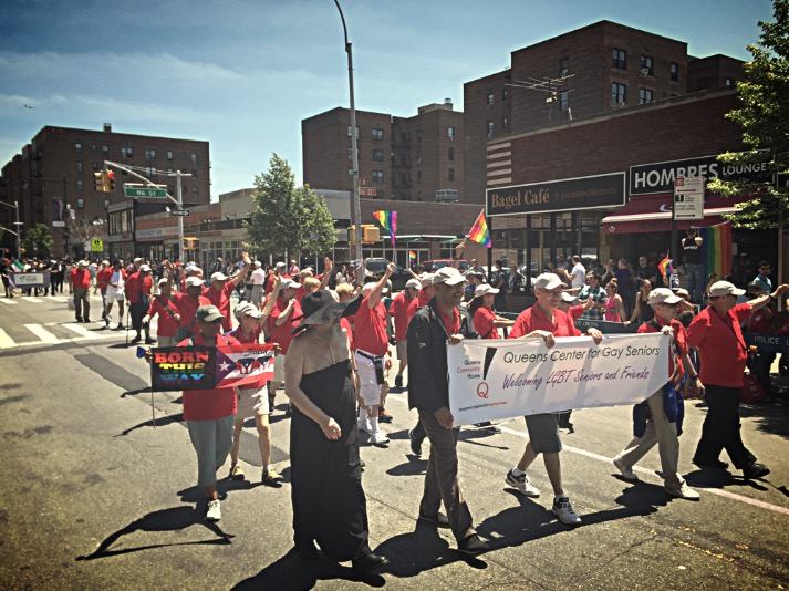
[[[200,525],[211,531],[216,538],[209,540],[195,540],[188,542],[173,543],[150,543],[136,547],[124,547],[118,550],[113,550],[112,546],[129,533],[135,531],[178,531],[194,525]],[[172,507],[159,511],[152,511],[139,519],[132,521],[124,528],[112,532],[98,545],[93,552],[87,556],[76,557],[75,560],[95,560],[97,558],[108,558],[112,556],[127,554],[138,552],[141,550],[150,550],[155,548],[168,548],[172,546],[201,546],[201,545],[228,545],[235,536],[225,533],[217,523],[211,523],[205,520],[205,507]]]

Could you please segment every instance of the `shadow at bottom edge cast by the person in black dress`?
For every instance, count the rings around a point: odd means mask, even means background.
[[[255,577],[236,584],[233,590],[277,589],[282,591],[302,591],[315,587],[319,580],[344,580],[362,582],[370,587],[383,587],[386,580],[380,574],[363,579],[351,568],[342,567],[326,559],[304,560],[295,550],[290,550],[282,558],[272,562]]]

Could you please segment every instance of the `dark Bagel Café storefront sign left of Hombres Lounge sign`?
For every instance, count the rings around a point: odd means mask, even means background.
[[[624,203],[624,173],[529,183],[486,191],[488,216],[611,208]]]

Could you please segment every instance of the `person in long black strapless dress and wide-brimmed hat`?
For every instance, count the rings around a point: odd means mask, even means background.
[[[347,338],[340,318],[359,299],[336,302],[328,290],[301,301],[304,319],[286,357],[286,394],[293,404],[290,431],[293,541],[304,558],[351,560],[360,574],[387,560],[367,543],[356,396]]]

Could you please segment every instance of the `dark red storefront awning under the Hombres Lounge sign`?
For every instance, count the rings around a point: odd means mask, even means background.
[[[606,234],[641,234],[660,232],[672,229],[672,194],[650,195],[647,197],[633,197],[625,206],[610,216],[605,216],[601,224]],[[707,195],[704,199],[704,219],[692,221],[677,221],[679,230],[691,226],[715,226],[724,219],[724,214],[735,214],[736,204],[747,197],[727,198],[718,195]]]

